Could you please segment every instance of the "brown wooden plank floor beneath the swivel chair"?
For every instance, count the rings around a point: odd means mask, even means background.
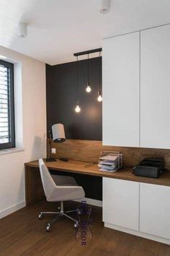
[[[67,202],[66,208],[79,203]],[[86,246],[76,241],[73,222],[60,219],[50,233],[45,231],[49,217],[38,220],[40,210],[56,210],[56,204],[45,200],[23,208],[0,220],[0,255],[50,256],[169,256],[170,246],[104,228],[102,209],[92,207],[92,238]]]

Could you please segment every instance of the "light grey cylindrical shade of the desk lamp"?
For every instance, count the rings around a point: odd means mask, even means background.
[[[53,142],[60,143],[66,140],[63,124],[53,124]]]

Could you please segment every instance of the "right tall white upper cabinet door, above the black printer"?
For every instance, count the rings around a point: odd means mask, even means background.
[[[141,32],[140,146],[170,148],[170,25]]]

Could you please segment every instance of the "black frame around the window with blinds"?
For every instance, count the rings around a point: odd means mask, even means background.
[[[9,138],[10,141],[6,143],[0,143],[0,150],[6,150],[9,148],[15,148],[15,125],[14,125],[14,64],[1,60],[0,64],[9,69],[10,76],[8,77],[9,86],[9,97],[8,97],[8,108],[9,108]]]

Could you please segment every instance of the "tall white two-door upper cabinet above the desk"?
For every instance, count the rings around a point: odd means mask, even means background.
[[[170,148],[170,25],[103,41],[103,144]]]

